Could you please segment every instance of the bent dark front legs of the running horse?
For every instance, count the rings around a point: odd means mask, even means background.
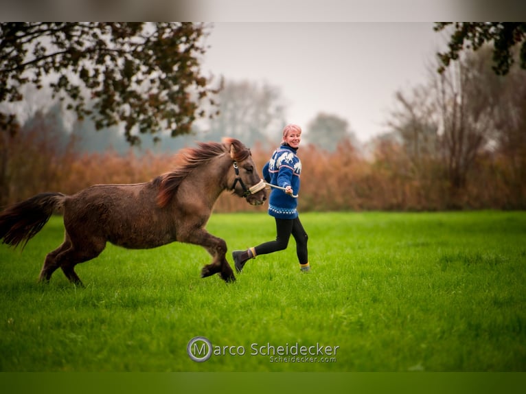
[[[202,278],[219,273],[221,278],[227,283],[236,280],[233,270],[225,257],[227,254],[227,243],[225,240],[211,235],[205,229],[198,229],[192,231],[186,240],[181,241],[203,246],[213,257],[212,262],[201,270]]]

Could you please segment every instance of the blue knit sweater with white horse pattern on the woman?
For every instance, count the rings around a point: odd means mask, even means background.
[[[295,196],[299,193],[301,161],[296,156],[296,149],[288,145],[277,148],[264,165],[262,172],[267,183],[279,187],[291,186]],[[295,219],[298,217],[297,205],[297,198],[293,198],[281,189],[273,188],[268,202],[268,214],[278,219]]]

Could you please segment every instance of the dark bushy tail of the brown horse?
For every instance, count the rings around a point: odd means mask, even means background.
[[[41,193],[8,207],[0,213],[0,239],[15,247],[23,242],[23,248],[52,213],[62,211],[64,200],[62,193]]]

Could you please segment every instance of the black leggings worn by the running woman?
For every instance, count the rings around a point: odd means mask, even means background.
[[[307,240],[308,235],[304,230],[299,218],[295,219],[276,219],[276,240],[265,242],[255,246],[256,255],[266,255],[277,251],[283,251],[288,246],[290,234],[296,241],[296,253],[299,264],[308,263]]]

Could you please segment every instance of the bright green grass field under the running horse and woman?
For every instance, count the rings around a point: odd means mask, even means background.
[[[0,371],[525,371],[526,212],[304,213],[312,271],[295,243],[238,281],[201,279],[198,246],[108,245],[36,283],[60,244],[52,218],[23,253],[0,247]],[[275,236],[266,214],[214,214],[229,251]],[[228,255],[231,261],[230,253]],[[244,355],[187,356],[206,336]],[[324,345],[336,360],[271,362],[251,345]]]

